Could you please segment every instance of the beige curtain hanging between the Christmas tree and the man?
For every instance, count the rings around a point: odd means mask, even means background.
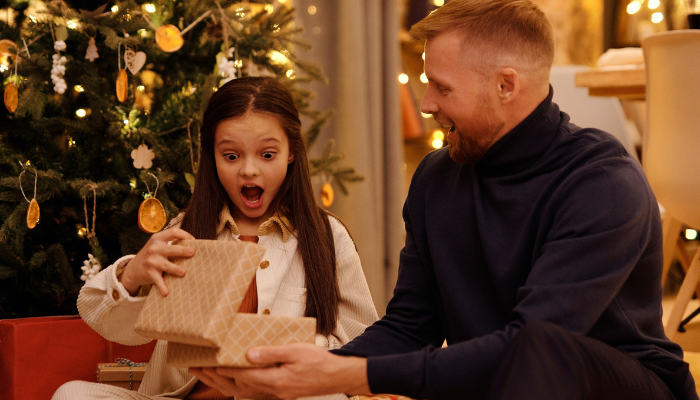
[[[304,36],[314,46],[299,55],[319,63],[329,78],[327,86],[311,87],[317,93],[312,104],[335,110],[310,154],[318,154],[332,138],[335,150],[345,155],[341,164],[365,177],[348,185],[348,196],[336,186],[329,211],[343,221],[355,241],[381,316],[393,293],[405,238],[398,0],[294,0],[293,4]],[[317,180],[314,185],[320,188],[321,183]]]

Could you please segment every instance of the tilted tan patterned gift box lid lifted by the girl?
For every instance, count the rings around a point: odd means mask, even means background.
[[[255,276],[265,248],[255,243],[183,240],[195,248],[189,258],[173,262],[185,276],[165,274],[170,293],[151,290],[134,327],[145,337],[219,347]]]

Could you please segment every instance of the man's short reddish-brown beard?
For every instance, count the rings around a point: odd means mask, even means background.
[[[479,102],[479,110],[477,115],[479,118],[474,121],[468,131],[459,131],[455,126],[456,139],[450,140],[448,135],[448,143],[450,149],[450,157],[462,164],[474,164],[481,160],[494,142],[494,138],[498,135],[501,128],[505,124],[502,120],[496,117],[493,107],[484,96]]]

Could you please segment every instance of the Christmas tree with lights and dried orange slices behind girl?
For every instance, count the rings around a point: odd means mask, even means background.
[[[84,280],[187,205],[202,114],[226,81],[278,77],[309,147],[331,115],[303,89],[326,78],[298,57],[309,46],[282,0],[91,4],[0,2],[0,319],[77,313]],[[362,179],[332,141],[321,153],[312,175],[345,193]]]

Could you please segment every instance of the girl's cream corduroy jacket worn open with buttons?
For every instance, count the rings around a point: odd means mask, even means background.
[[[377,320],[377,312],[365,281],[360,258],[345,227],[330,217],[335,244],[337,279],[340,288],[339,318],[332,335],[316,335],[316,344],[326,349],[339,348],[361,334]],[[258,268],[258,314],[303,316],[306,305],[304,270],[297,240],[287,230],[289,224],[273,217],[258,230],[259,242],[267,251],[263,261],[269,267]],[[284,221],[287,222],[287,221]],[[175,221],[179,226],[179,221]],[[239,231],[228,208],[220,215],[217,240],[238,240]],[[78,311],[85,322],[104,338],[125,344],[140,345],[151,339],[137,335],[134,324],[145,297],[132,297],[117,280],[116,271],[134,256],[124,256],[85,284],[78,297]],[[167,342],[158,341],[149,362],[139,393],[148,396],[183,398],[194,387],[197,378],[186,368],[165,365]],[[325,399],[345,399],[331,395]]]

